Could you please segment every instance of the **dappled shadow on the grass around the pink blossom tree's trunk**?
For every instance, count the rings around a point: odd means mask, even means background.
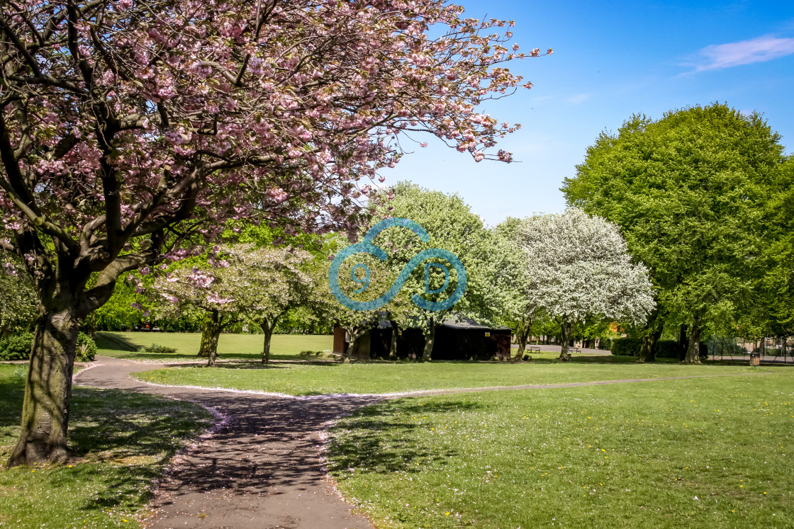
[[[19,435],[24,393],[24,378],[0,373],[0,458],[8,457]],[[195,404],[115,389],[75,388],[69,428],[71,467],[46,466],[38,474],[18,468],[0,472],[21,480],[46,476],[52,487],[85,483],[87,487],[78,490],[91,493],[74,498],[81,510],[137,510],[183,439],[195,438],[209,424],[209,414]]]

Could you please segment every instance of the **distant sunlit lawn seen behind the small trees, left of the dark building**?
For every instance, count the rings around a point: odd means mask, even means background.
[[[222,334],[218,340],[220,358],[262,358],[264,335]],[[130,360],[163,360],[178,362],[200,360],[198,344],[199,332],[98,332],[96,334],[98,355],[129,358]],[[173,355],[148,355],[137,352],[139,347],[157,343],[174,347]],[[270,345],[270,358],[294,359],[301,351],[330,351],[333,347],[331,335],[273,335]],[[135,349],[136,351],[130,351]]]

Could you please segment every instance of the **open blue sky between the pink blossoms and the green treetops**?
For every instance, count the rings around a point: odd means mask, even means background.
[[[520,163],[474,162],[430,138],[386,184],[409,179],[458,193],[491,225],[565,209],[559,191],[599,132],[633,113],[727,102],[764,114],[794,152],[794,2],[516,2],[458,0],[468,16],[515,20],[522,51],[553,56],[515,62],[534,83],[484,105],[522,124],[500,148]]]

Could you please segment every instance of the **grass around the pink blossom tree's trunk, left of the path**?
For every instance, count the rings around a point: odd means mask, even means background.
[[[19,435],[25,367],[0,365],[2,464]],[[148,395],[78,387],[71,402],[75,461],[0,466],[0,527],[140,527],[152,481],[210,424],[195,404]]]

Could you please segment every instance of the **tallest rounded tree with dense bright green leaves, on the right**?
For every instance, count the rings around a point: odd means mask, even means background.
[[[693,106],[660,120],[635,115],[603,132],[562,187],[570,205],[618,224],[650,270],[664,324],[684,325],[686,362],[700,335],[724,326],[764,265],[765,202],[784,161],[780,136],[758,114]],[[682,333],[683,334],[683,333]]]

